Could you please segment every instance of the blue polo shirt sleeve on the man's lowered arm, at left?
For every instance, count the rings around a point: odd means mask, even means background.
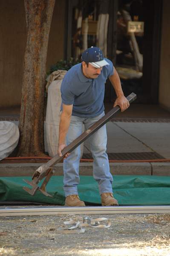
[[[64,80],[61,83],[61,99],[65,105],[72,105],[75,99],[75,95],[71,92],[69,84]]]

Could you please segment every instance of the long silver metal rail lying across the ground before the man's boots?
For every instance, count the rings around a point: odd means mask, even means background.
[[[5,207],[0,216],[68,215],[68,214],[142,214],[170,213],[170,206],[115,206],[115,207]]]

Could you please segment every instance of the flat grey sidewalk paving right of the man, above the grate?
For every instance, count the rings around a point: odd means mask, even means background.
[[[169,122],[109,122],[108,152],[156,152],[170,159]]]

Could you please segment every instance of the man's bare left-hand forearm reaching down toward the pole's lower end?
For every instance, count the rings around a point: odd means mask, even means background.
[[[69,130],[70,119],[71,119],[71,116],[63,112],[61,113],[58,145],[65,144],[66,134]]]

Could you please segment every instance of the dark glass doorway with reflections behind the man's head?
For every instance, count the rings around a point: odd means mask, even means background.
[[[112,60],[125,96],[135,103],[158,103],[161,0],[69,0],[66,58],[80,59],[100,47]],[[115,98],[107,81],[105,103]]]

